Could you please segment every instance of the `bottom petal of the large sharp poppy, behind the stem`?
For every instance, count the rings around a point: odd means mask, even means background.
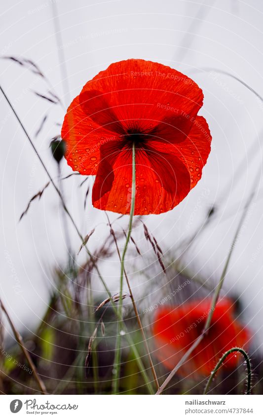
[[[132,151],[120,142],[101,147],[92,191],[94,207],[129,214],[132,190]],[[190,190],[189,172],[175,155],[153,148],[136,150],[135,214],[159,214],[174,208]]]

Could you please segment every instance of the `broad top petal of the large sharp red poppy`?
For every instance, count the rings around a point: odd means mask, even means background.
[[[100,72],[83,87],[81,102],[89,91],[103,92],[109,105],[104,109],[112,109],[126,129],[150,130],[171,118],[181,118],[189,125],[188,119],[196,116],[203,102],[202,90],[188,76],[140,59],[113,63]],[[98,121],[91,111],[88,107],[88,114]]]

